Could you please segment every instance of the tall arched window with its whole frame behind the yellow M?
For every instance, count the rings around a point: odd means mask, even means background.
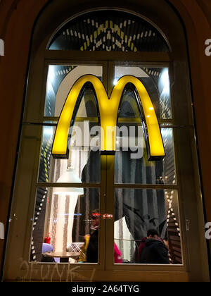
[[[99,273],[91,274],[101,281],[112,280],[114,271],[119,280],[121,271],[131,280],[138,280],[137,271],[148,279],[154,271],[151,280],[161,271],[173,276],[179,271],[186,280],[194,273],[191,266],[200,269],[203,250],[198,258],[187,256],[194,253],[193,241],[200,245],[197,230],[198,239],[188,235],[189,223],[200,221],[200,184],[186,42],[177,15],[159,2],[159,8],[155,1],[137,3],[137,9],[78,6],[67,14],[71,4],[54,1],[37,20],[13,193],[13,209],[23,219],[11,225],[6,269],[19,257],[30,266],[36,261],[38,271],[43,262],[83,262],[77,276],[87,278],[94,264]],[[43,32],[45,15],[55,23]],[[91,80],[80,84],[84,75],[104,87],[105,104],[102,89]],[[120,104],[112,109],[113,93],[126,75]],[[53,158],[56,128],[66,110],[67,154]],[[103,153],[102,125],[109,116],[117,121],[115,149]],[[162,157],[151,157],[149,142],[158,146],[151,132],[155,125]],[[15,275],[21,272],[17,265]],[[9,271],[8,277],[13,277]]]

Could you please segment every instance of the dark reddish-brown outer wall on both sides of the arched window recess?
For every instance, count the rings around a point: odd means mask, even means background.
[[[5,229],[8,226],[8,209],[13,189],[32,29],[39,12],[48,2],[50,0],[0,1],[0,39],[5,44],[5,54],[0,56],[0,222],[4,223]],[[207,17],[211,2],[169,2],[177,9],[186,27],[205,214],[206,220],[211,221],[211,56],[205,55],[205,40],[211,38],[210,19]],[[0,263],[3,257],[4,240],[0,239]]]

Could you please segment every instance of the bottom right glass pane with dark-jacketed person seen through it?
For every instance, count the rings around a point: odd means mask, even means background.
[[[123,264],[182,264],[177,190],[116,189],[115,244]]]

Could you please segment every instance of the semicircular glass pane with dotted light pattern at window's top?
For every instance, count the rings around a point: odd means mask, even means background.
[[[169,51],[160,32],[122,11],[96,11],[66,23],[49,49],[91,51]]]

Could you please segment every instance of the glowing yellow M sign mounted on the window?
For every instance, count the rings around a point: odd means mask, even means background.
[[[101,128],[104,131],[103,135],[101,135],[101,153],[113,154],[115,152],[116,126],[122,92],[126,85],[130,83],[136,93],[139,112],[143,123],[146,147],[148,149],[148,159],[162,159],[165,156],[165,149],[158,125],[158,118],[155,114],[151,98],[142,82],[132,75],[123,76],[118,80],[117,85],[115,85],[110,95],[110,99],[108,98],[103,83],[94,75],[84,75],[75,82],[65,101],[63,111],[60,113],[53,141],[53,157],[67,158],[68,130],[70,126],[74,125],[81,93],[88,82],[91,84],[96,94],[99,119]]]

